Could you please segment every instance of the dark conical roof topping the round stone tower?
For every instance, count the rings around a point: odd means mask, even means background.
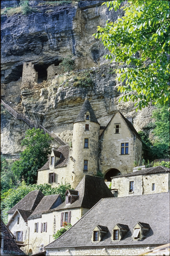
[[[87,113],[87,111],[89,111],[89,113],[90,113],[90,122],[98,124],[98,121],[97,121],[97,118],[94,114],[92,106],[91,106],[90,102],[87,99],[84,101],[84,103],[81,107],[81,110],[80,110],[80,112],[77,116],[77,119],[74,123],[85,121],[85,114]]]

